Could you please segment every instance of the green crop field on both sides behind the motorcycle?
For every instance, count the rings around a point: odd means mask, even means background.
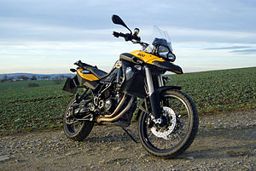
[[[182,86],[195,101],[200,114],[256,107],[256,67],[171,77],[173,81],[168,84]],[[14,85],[0,83],[0,131],[61,125],[61,117],[72,94],[62,91],[63,85],[53,85],[49,81],[32,82],[40,87],[21,88],[21,83],[28,84],[25,81]]]

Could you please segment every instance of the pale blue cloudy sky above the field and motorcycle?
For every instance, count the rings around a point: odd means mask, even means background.
[[[143,42],[169,33],[184,72],[256,66],[255,0],[0,0],[0,74],[69,73],[82,60],[110,71],[141,47],[113,31],[118,14]]]

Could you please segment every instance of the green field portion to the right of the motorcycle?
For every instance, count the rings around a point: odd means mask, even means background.
[[[201,113],[256,106],[256,67],[172,75]]]

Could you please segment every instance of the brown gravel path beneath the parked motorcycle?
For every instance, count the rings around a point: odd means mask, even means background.
[[[0,139],[0,170],[256,170],[256,110],[201,116],[193,144],[177,159],[150,156],[121,128],[96,126],[83,142],[62,130]],[[137,123],[129,130],[138,140]]]

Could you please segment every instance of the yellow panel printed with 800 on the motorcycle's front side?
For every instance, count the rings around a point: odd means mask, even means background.
[[[154,61],[165,61],[161,59],[160,57],[157,57],[153,54],[148,54],[146,52],[142,52],[139,50],[132,51],[130,54],[136,56],[137,58],[143,60],[145,63],[152,64]]]

